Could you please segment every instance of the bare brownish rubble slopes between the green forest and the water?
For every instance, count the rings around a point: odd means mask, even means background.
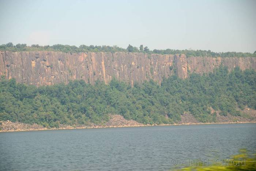
[[[202,123],[196,120],[192,114],[184,113],[181,115],[181,121],[174,124],[162,124],[164,125],[201,125],[201,124],[215,124],[215,123],[256,123],[256,110],[246,108],[243,113],[246,117],[234,117],[228,114],[227,116],[220,116],[217,111],[217,122]],[[42,125],[36,123],[30,125],[21,122],[0,121],[0,132],[16,132],[16,131],[33,131],[33,130],[55,130],[55,129],[85,129],[85,128],[117,128],[117,127],[138,127],[138,126],[156,126],[144,125],[143,123],[136,122],[134,120],[127,120],[121,115],[110,115],[109,121],[96,125],[90,123],[89,125],[60,125],[59,128],[45,128]]]

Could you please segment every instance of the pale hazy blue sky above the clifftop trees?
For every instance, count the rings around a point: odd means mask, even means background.
[[[256,50],[255,0],[0,0],[0,44]]]

